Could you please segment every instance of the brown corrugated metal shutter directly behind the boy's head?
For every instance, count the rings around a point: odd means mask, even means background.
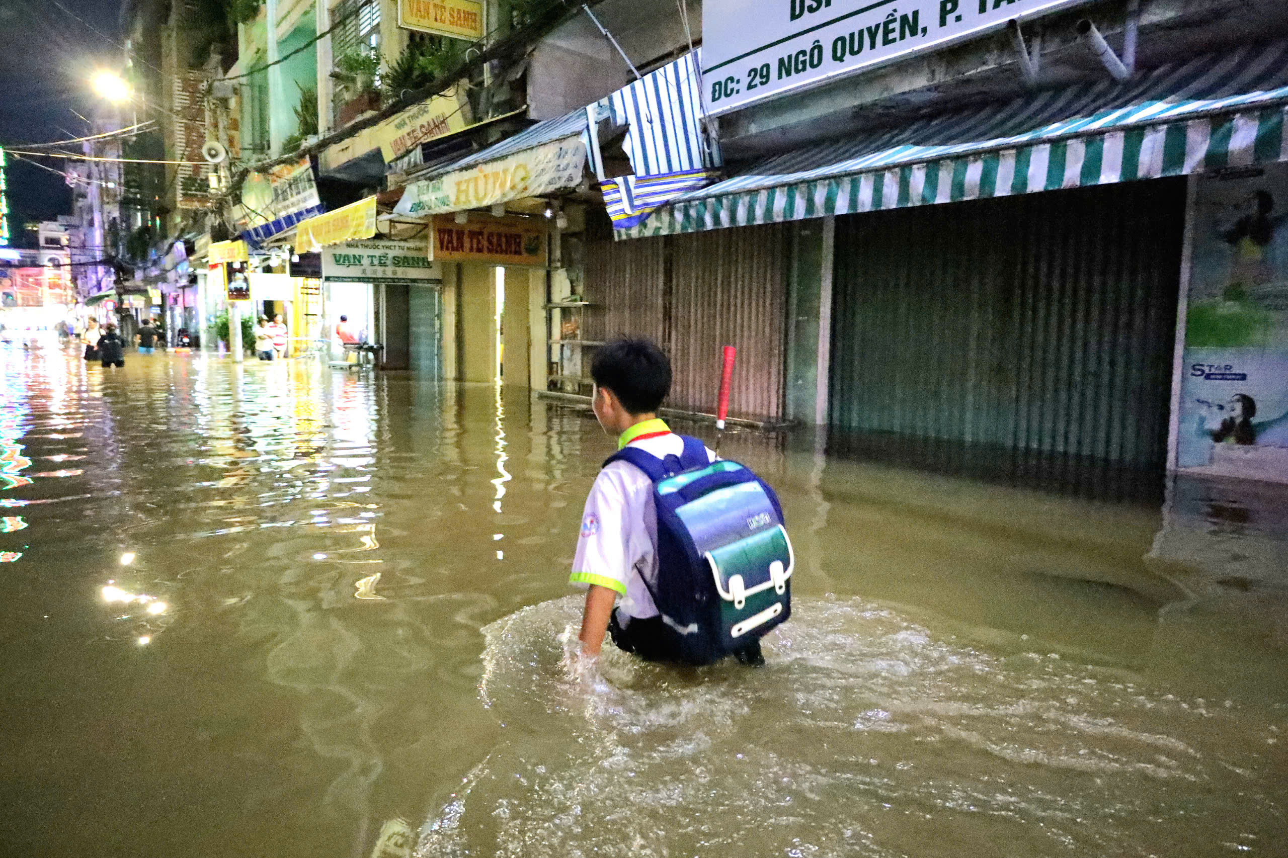
[[[715,410],[720,347],[738,347],[732,416],[779,419],[788,227],[586,245],[585,336],[648,336],[671,356],[667,406]]]

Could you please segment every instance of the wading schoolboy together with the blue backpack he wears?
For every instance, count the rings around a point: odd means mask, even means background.
[[[760,636],[791,612],[777,497],[658,420],[671,363],[657,345],[608,343],[590,372],[595,419],[618,452],[586,499],[569,577],[589,589],[582,656],[596,657],[607,634],[648,661],[762,665]]]

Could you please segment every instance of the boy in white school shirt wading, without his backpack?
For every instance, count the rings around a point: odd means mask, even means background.
[[[595,419],[618,437],[618,448],[630,444],[658,459],[680,455],[680,435],[657,417],[671,392],[671,362],[657,345],[613,340],[598,349],[590,376]],[[715,460],[710,450],[707,459]],[[671,660],[658,635],[662,617],[648,586],[658,577],[656,528],[653,484],[644,472],[625,461],[600,470],[586,497],[568,578],[587,587],[580,635],[583,656],[598,656],[607,634],[618,649],[648,661]],[[744,665],[764,663],[759,640],[734,657]]]

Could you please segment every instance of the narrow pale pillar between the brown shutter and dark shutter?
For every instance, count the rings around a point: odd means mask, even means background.
[[[787,417],[827,423],[836,219],[801,220],[787,295]]]

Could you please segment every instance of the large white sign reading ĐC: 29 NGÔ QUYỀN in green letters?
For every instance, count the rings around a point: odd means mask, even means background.
[[[707,0],[702,81],[726,113],[1088,0]],[[748,8],[751,6],[751,8]]]

